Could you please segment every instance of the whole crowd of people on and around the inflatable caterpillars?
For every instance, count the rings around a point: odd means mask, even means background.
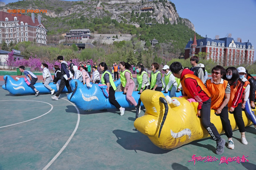
[[[228,113],[234,116],[239,132],[241,133],[240,139],[242,144],[248,144],[245,138],[245,124],[242,118],[242,109],[245,108],[246,103],[255,109],[256,80],[244,67],[228,67],[224,69],[224,67],[216,65],[211,70],[212,78],[209,79],[204,64],[198,64],[198,57],[193,56],[190,58],[191,68],[183,68],[180,62],[173,62],[170,67],[164,65],[162,68],[165,73],[163,80],[163,75],[159,71],[160,65],[155,62],[151,64],[152,71],[149,78],[143,64],[132,66],[122,61],[119,64],[114,63],[111,67],[108,67],[105,62],[101,62],[98,65],[94,62],[93,66],[88,62],[87,64],[80,63],[79,67],[77,67],[72,63],[72,60],[70,60],[70,64],[68,65],[63,60],[63,56],[58,56],[57,59],[61,63],[61,68],[58,65],[54,66],[54,79],[52,79],[51,73],[48,70],[48,65],[45,63],[41,65],[44,86],[51,91],[52,95],[55,91],[49,86],[49,82],[53,81],[56,84],[57,94],[52,97],[54,100],[58,100],[65,86],[69,93],[71,92],[69,85],[70,79],[78,79],[84,85],[86,84],[88,88],[92,87],[90,82],[101,82],[107,85],[109,102],[120,110],[120,115],[124,115],[125,108],[121,107],[115,98],[117,87],[114,81],[119,79],[120,73],[120,92],[126,94],[127,101],[135,109],[137,109],[137,101],[132,96],[134,88],[139,93],[147,89],[164,91],[164,93],[170,92],[170,97],[175,97],[175,92],[182,91],[183,95],[195,99],[198,102],[197,116],[201,118],[203,127],[217,143],[216,154],[223,154],[226,140],[220,137],[216,127],[211,123],[211,109],[214,109],[216,116],[220,116],[223,129],[228,138],[228,148],[234,149],[234,142],[232,140],[233,132]],[[98,69],[102,72],[101,76]],[[136,71],[136,83],[130,70],[133,70],[133,73]],[[30,71],[25,70],[24,66],[20,66],[20,71],[30,80],[30,87],[35,90],[37,95],[39,91],[34,87],[37,77]]]

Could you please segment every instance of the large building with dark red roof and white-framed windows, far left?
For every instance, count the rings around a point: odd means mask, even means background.
[[[35,18],[35,14],[30,16],[21,13],[6,13],[0,11],[0,43],[11,41],[35,41],[46,44],[47,29],[41,24],[41,16]]]

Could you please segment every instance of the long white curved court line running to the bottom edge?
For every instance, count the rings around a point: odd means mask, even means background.
[[[64,99],[64,98],[62,98]],[[67,99],[64,99],[67,100]],[[67,100],[68,102],[70,102],[69,100]],[[61,148],[61,150],[55,155],[54,158],[52,158],[52,160],[43,168],[43,170],[46,170],[47,168],[49,168],[49,166],[52,165],[52,163],[58,158],[58,156],[61,154],[61,152],[67,147],[68,143],[70,142],[70,140],[73,138],[74,134],[76,133],[76,130],[78,128],[79,122],[80,122],[80,112],[78,110],[78,108],[76,107],[76,105],[72,102],[70,102],[73,106],[75,106],[76,111],[77,111],[77,122],[76,122],[76,127],[75,130],[73,131],[73,133],[71,134],[71,136],[69,137],[69,139],[67,140],[67,142],[65,143],[65,145]]]

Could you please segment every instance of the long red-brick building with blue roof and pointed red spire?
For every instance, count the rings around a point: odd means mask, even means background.
[[[185,59],[190,58],[199,52],[205,52],[207,60],[211,59],[223,66],[252,64],[254,46],[249,42],[235,42],[229,36],[219,39],[202,38],[190,40],[185,47]]]

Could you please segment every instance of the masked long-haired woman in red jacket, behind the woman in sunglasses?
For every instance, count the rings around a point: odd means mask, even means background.
[[[244,82],[239,78],[239,73],[235,67],[228,67],[226,69],[226,76],[223,78],[229,82],[230,85],[230,99],[228,108],[230,113],[233,113],[239,132],[241,133],[242,144],[247,145],[245,138],[245,123],[242,117],[242,94],[244,92]]]

